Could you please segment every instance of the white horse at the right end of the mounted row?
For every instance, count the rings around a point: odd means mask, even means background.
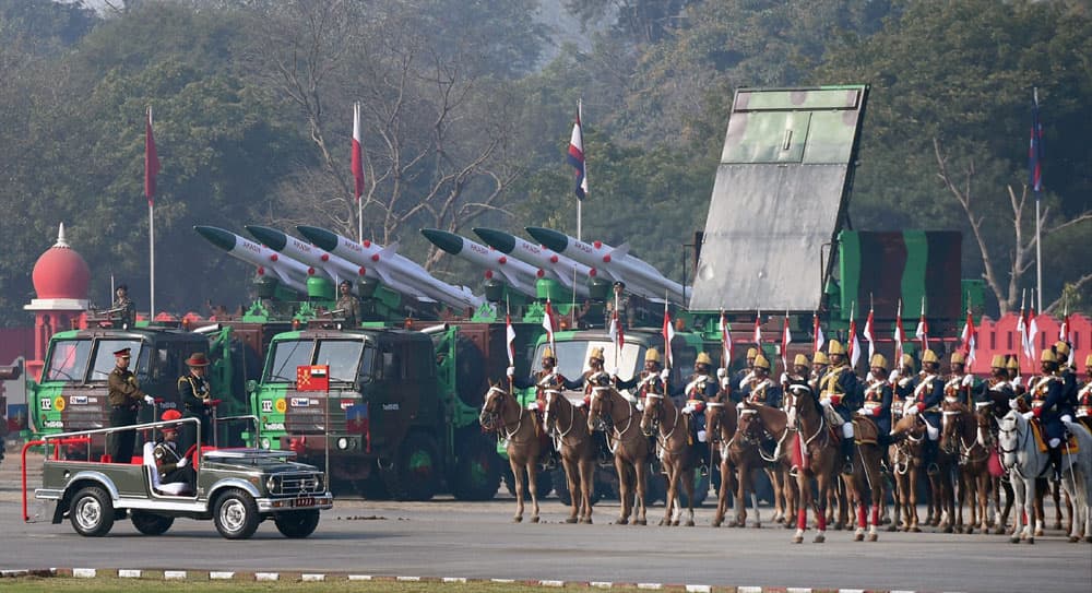
[[[1001,418],[999,426],[997,449],[1012,483],[1017,509],[1011,542],[1017,544],[1021,538],[1026,538],[1029,544],[1034,544],[1034,531],[1031,524],[1024,524],[1024,518],[1032,521],[1035,517],[1035,478],[1048,471],[1049,456],[1040,452],[1031,423],[1019,412],[1010,411]],[[1077,425],[1070,425],[1070,430],[1077,435],[1079,452],[1063,455],[1061,460],[1061,487],[1073,501],[1075,517],[1069,541],[1080,541],[1078,534],[1083,532],[1085,539],[1092,542],[1092,515],[1089,509],[1089,493],[1092,491],[1092,434]]]

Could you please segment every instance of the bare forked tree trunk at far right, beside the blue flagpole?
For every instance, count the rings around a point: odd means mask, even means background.
[[[1022,186],[1019,198],[1011,185],[1006,187],[1011,207],[1011,218],[1006,220],[1012,225],[1012,240],[1011,244],[1006,241],[1005,245],[992,245],[984,227],[986,213],[989,211],[990,204],[988,202],[980,202],[975,186],[977,171],[975,169],[974,157],[968,158],[960,170],[953,171],[950,165],[950,154],[946,152],[941,141],[937,138],[933,139],[933,151],[937,158],[937,176],[966,214],[968,223],[971,225],[971,233],[974,235],[978,252],[982,254],[983,278],[985,278],[990,292],[997,298],[997,305],[1000,308],[1001,315],[1005,315],[1018,306],[1021,280],[1024,273],[1035,263],[1036,237],[1033,230],[1035,228],[1035,214],[1032,211],[1033,206],[1028,201],[1028,186]],[[1030,224],[1028,218],[1031,218]],[[1051,207],[1047,206],[1040,213],[1038,224],[1041,234],[1048,235],[1092,220],[1092,211],[1084,212],[1079,216],[1063,221],[1054,226],[1047,226],[1049,220]],[[1031,236],[1028,237],[1028,235]],[[1007,262],[1001,257],[1006,247],[1010,248],[1010,257]],[[1008,266],[1007,270],[1004,269],[1006,265]],[[1006,282],[1006,276],[1008,276],[1008,282]],[[1092,274],[1084,274],[1081,278],[1077,280],[1073,289],[1080,288],[1080,286],[1090,280],[1092,280]],[[1051,306],[1045,308],[1045,311],[1058,307],[1060,303],[1060,298],[1055,300]]]

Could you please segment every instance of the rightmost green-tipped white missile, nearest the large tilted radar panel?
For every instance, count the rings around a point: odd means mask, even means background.
[[[527,233],[543,245],[572,259],[595,266],[601,274],[626,283],[626,287],[644,298],[664,299],[686,305],[690,289],[667,278],[644,260],[629,254],[629,244],[610,247],[602,241],[586,244],[565,233],[549,228],[527,227]]]

